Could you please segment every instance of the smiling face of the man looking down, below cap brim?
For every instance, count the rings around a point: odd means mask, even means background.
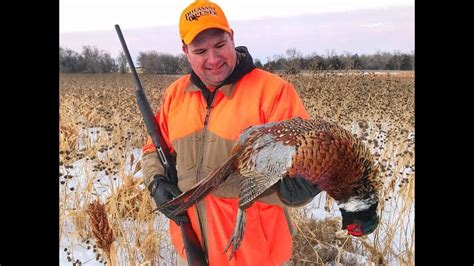
[[[219,29],[199,33],[189,45],[183,45],[183,52],[196,75],[211,86],[230,76],[237,60],[233,33]]]

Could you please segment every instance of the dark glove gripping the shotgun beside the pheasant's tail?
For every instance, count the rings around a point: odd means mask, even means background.
[[[151,196],[155,200],[156,207],[158,207],[158,210],[166,217],[173,220],[178,225],[180,222],[189,221],[186,213],[176,215],[171,214],[177,208],[177,206],[160,208],[162,204],[172,200],[174,197],[177,197],[179,196],[179,194],[181,194],[181,190],[179,190],[177,185],[171,184],[170,182],[168,182],[166,177],[162,175],[155,175],[153,177],[153,181],[151,181],[151,183],[148,185],[148,190],[150,191]]]

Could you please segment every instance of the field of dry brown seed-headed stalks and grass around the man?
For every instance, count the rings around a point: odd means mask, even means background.
[[[159,106],[163,90],[176,78],[141,74],[152,108]],[[366,237],[339,231],[337,206],[325,193],[310,206],[292,209],[297,229],[292,262],[414,264],[413,72],[318,72],[283,78],[295,85],[312,116],[336,122],[360,137],[375,155],[385,180],[379,195],[381,224]],[[111,253],[115,247],[117,265],[174,264],[168,221],[151,213],[152,200],[142,178],[135,176],[140,163],[132,151],[145,142],[146,128],[134,90],[130,75],[60,76],[61,237],[94,241],[108,260],[112,255],[107,250]],[[79,172],[78,162],[83,165]],[[98,203],[98,197],[105,204]],[[94,216],[89,206],[96,206]],[[315,219],[309,210],[315,208],[327,217]],[[85,213],[94,217],[91,223],[85,221]],[[103,261],[92,248],[90,252]]]

